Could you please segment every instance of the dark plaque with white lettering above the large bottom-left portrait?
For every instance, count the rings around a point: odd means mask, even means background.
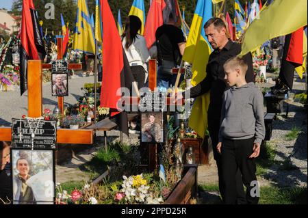
[[[56,122],[12,119],[12,148],[55,149]]]

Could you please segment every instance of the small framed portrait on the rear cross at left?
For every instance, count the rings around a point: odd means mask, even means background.
[[[52,96],[68,96],[68,74],[53,73],[51,83]]]

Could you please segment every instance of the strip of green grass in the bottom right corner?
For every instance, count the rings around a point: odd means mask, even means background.
[[[259,204],[307,204],[307,187],[261,187]]]

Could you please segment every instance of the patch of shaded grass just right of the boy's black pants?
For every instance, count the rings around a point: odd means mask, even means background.
[[[268,172],[268,168],[272,165],[279,163],[279,161],[274,161],[276,152],[274,146],[268,141],[263,146],[261,146],[260,155],[256,159],[257,164],[257,176],[261,176]]]

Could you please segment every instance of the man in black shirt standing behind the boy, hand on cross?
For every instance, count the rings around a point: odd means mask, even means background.
[[[209,62],[207,64],[207,77],[198,83],[192,89],[179,94],[177,98],[196,98],[206,92],[210,93],[209,109],[207,111],[208,130],[211,137],[214,159],[218,167],[219,176],[219,189],[222,199],[224,199],[224,187],[222,185],[221,176],[221,164],[220,154],[218,154],[216,146],[218,144],[218,132],[220,128],[220,116],[222,109],[222,96],[227,88],[224,82],[224,68],[223,65],[230,59],[238,55],[241,51],[240,44],[232,42],[227,38],[227,28],[222,19],[211,18],[205,23],[205,34],[209,43],[211,44],[214,51],[209,56]],[[253,74],[253,59],[251,53],[245,55],[244,60],[248,64],[248,70],[246,72],[246,81],[254,82],[255,77]],[[189,96],[190,92],[190,96]],[[182,95],[182,96],[181,96]],[[243,189],[242,175],[238,170],[237,178],[237,192],[238,192],[238,204],[246,204],[246,197]]]

